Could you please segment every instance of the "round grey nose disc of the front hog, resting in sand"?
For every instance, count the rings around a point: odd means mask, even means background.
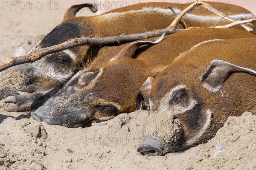
[[[138,146],[137,152],[149,156],[161,156],[163,145],[153,137],[145,137]]]

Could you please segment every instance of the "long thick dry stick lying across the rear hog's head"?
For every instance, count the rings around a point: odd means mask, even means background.
[[[63,42],[58,45],[54,45],[47,48],[41,48],[40,50],[30,53],[20,57],[9,57],[7,59],[3,59],[0,61],[0,72],[6,70],[15,65],[20,65],[28,62],[35,62],[42,57],[52,54],[58,51],[66,50],[73,47],[78,47],[81,45],[105,45],[105,44],[113,44],[119,42],[128,42],[128,41],[136,41],[143,40],[151,37],[157,37],[166,34],[174,34],[176,32],[184,31],[183,29],[161,29],[157,31],[151,31],[147,33],[141,34],[128,34],[122,36],[114,36],[114,37],[104,37],[104,38],[74,38],[67,42]]]

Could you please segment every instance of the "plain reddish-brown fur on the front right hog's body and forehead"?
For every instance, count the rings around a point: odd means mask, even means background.
[[[195,99],[200,104],[201,107],[196,112],[201,115],[201,118],[200,116],[200,119],[198,118],[198,125],[203,126],[206,123],[206,110],[212,111],[211,125],[205,132],[200,127],[191,128],[190,124],[194,120],[188,119],[188,116],[191,116],[192,113],[189,111],[193,109],[184,113],[176,113],[184,130],[185,141],[196,138],[195,141],[186,143],[182,147],[205,142],[223,126],[229,116],[240,116],[244,111],[256,114],[255,76],[247,73],[233,73],[216,93],[209,93],[201,86],[201,77],[207,65],[214,59],[256,70],[255,49],[255,37],[209,42],[181,54],[151,82],[149,100],[151,112],[162,111],[161,108],[166,104],[169,108],[173,105],[163,103],[163,99],[177,85],[184,85],[187,91],[186,96],[188,96],[188,99],[181,100],[180,103]],[[181,105],[186,106],[186,104],[180,104],[179,107]],[[196,136],[200,131],[204,133]]]

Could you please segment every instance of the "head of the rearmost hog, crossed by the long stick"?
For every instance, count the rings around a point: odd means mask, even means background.
[[[97,7],[92,3],[71,6],[67,9],[63,22],[44,36],[27,54],[41,48],[58,45],[71,38],[94,35],[90,24],[87,24],[86,20],[76,17],[76,13],[84,7],[89,7],[93,12],[97,11]],[[88,48],[88,46],[71,48],[49,54],[33,63],[16,66],[15,69],[25,76],[21,91],[29,93],[46,91],[64,84],[82,67],[84,62],[87,62]]]

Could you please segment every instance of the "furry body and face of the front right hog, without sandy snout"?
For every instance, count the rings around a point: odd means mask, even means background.
[[[144,97],[151,112],[172,111],[184,131],[179,144],[169,144],[164,153],[206,142],[229,116],[256,114],[255,49],[255,36],[199,43],[151,79],[145,93],[150,96]]]

